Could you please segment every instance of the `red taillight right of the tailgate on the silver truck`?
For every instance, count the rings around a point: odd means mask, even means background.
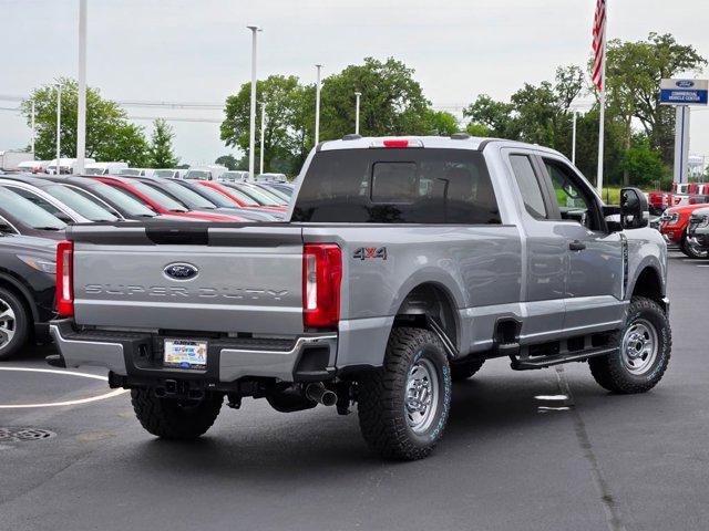
[[[306,327],[337,327],[340,321],[342,253],[335,243],[302,249],[302,322]]]

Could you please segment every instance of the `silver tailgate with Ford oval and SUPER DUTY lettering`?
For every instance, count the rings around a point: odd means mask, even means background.
[[[76,323],[171,331],[304,331],[299,228],[181,225],[72,227]]]

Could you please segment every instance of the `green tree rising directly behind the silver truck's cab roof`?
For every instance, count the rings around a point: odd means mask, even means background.
[[[322,82],[321,139],[354,133],[354,93],[360,92],[360,133],[364,136],[419,135],[429,129],[430,102],[413,69],[389,58],[366,58]]]

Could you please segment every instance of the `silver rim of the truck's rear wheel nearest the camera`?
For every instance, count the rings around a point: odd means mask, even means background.
[[[407,377],[404,410],[407,424],[414,434],[425,433],[439,409],[439,378],[435,365],[421,358],[412,365]]]

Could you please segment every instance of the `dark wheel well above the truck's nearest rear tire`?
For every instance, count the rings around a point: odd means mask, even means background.
[[[429,329],[429,319],[435,320],[453,345],[460,347],[453,300],[444,288],[432,282],[411,290],[397,312],[394,326]]]

